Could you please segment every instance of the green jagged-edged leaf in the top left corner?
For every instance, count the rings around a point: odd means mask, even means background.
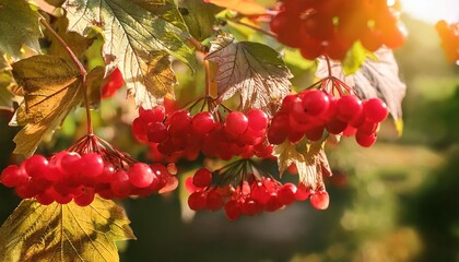
[[[39,52],[38,12],[26,1],[0,0],[0,52],[21,57],[22,46]]]

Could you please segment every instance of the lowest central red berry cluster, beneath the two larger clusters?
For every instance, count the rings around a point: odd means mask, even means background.
[[[234,175],[234,174],[226,174]],[[222,176],[222,175],[216,175]],[[254,174],[245,174],[246,179],[237,186],[213,186],[213,174],[207,168],[200,168],[193,177],[187,180],[187,188],[191,192],[188,205],[193,211],[224,209],[229,221],[236,221],[242,215],[255,216],[263,211],[273,212],[295,200],[305,201],[310,196],[311,205],[318,210],[326,210],[329,204],[327,191],[314,191],[305,184],[296,187],[293,183],[282,184],[270,177],[256,178]],[[217,178],[216,178],[217,179]]]

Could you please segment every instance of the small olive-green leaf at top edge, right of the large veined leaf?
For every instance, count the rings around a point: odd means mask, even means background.
[[[196,39],[204,40],[214,33],[215,14],[222,11],[222,8],[202,0],[178,0],[177,5]]]

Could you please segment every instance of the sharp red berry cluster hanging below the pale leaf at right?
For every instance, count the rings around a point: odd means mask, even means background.
[[[320,90],[308,90],[289,95],[271,120],[268,140],[281,144],[289,140],[296,143],[306,136],[309,141],[322,139],[327,130],[332,134],[355,135],[365,147],[376,141],[376,130],[389,110],[379,98],[361,100],[355,95],[339,98]]]

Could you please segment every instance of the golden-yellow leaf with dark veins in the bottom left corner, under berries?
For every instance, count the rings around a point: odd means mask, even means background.
[[[115,241],[136,239],[121,207],[94,199],[40,205],[23,200],[0,227],[0,261],[119,261]]]

